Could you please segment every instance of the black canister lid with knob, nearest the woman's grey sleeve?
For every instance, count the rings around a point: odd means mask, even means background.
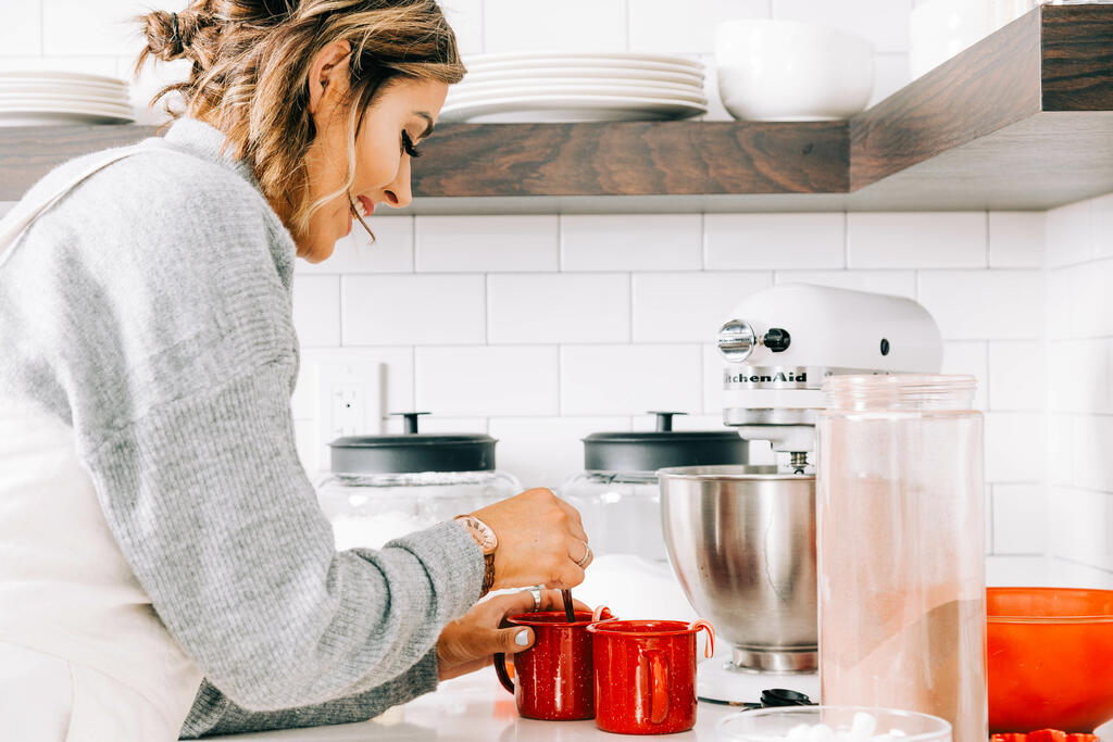
[[[333,474],[416,474],[420,472],[490,472],[494,469],[494,444],[489,435],[420,434],[417,416],[429,413],[394,413],[405,419],[402,435],[364,435],[337,438],[332,448]]]

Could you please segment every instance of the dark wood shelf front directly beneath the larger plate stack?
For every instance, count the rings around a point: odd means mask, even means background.
[[[848,187],[843,121],[450,125],[415,196],[821,194]]]

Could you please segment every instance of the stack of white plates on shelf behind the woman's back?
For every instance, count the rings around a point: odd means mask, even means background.
[[[124,80],[83,72],[0,72],[0,126],[134,120]]]

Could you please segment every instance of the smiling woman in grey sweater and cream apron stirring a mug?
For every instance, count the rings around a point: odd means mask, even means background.
[[[354,721],[525,649],[498,626],[532,595],[472,606],[578,584],[572,507],[536,489],[337,553],[294,447],[292,264],[410,202],[464,73],[436,3],[195,0],[145,22],[140,63],[193,60],[186,115],[0,222],[8,735]]]

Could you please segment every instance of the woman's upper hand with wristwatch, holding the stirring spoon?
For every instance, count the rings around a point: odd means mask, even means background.
[[[529,489],[472,513],[499,538],[494,590],[544,585],[569,588],[591,564],[580,513],[550,489]]]

